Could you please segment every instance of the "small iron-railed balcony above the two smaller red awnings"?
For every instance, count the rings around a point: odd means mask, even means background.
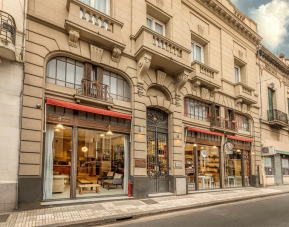
[[[236,134],[238,129],[236,122],[222,117],[210,117],[212,131],[222,131],[226,133]]]

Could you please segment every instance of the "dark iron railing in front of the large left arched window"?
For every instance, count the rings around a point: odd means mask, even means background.
[[[96,81],[88,79],[81,80],[81,88],[79,89],[81,94],[87,97],[92,97],[106,102],[113,102],[113,98],[110,96],[109,86]]]

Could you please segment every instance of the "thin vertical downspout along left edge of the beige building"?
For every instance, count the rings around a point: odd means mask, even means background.
[[[25,41],[25,13],[26,13],[26,0],[24,0],[24,6],[23,6],[23,32],[22,32],[22,48],[20,53],[20,58],[22,61],[22,85],[21,85],[21,92],[20,92],[20,111],[19,111],[19,146],[18,146],[18,165],[17,165],[17,178],[16,178],[16,210],[18,209],[18,197],[19,197],[19,167],[20,167],[20,150],[21,150],[21,130],[22,130],[22,115],[23,115],[23,90],[24,90],[24,80],[25,80],[25,64],[24,64],[24,41]]]

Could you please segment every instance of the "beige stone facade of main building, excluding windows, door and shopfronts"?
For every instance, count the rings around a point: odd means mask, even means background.
[[[20,206],[39,207],[42,201],[45,98],[77,101],[75,89],[46,82],[47,63],[57,56],[101,66],[128,82],[130,102],[114,99],[109,109],[132,116],[130,179],[134,198],[148,196],[147,168],[136,166],[136,160],[147,159],[148,107],[168,114],[170,191],[184,191],[176,184],[183,182],[178,178],[186,178],[185,126],[212,129],[210,122],[184,116],[185,97],[218,105],[222,118],[226,108],[249,119],[248,131],[219,131],[254,141],[250,167],[252,185],[257,185],[257,166],[261,165],[256,76],[256,46],[261,37],[257,24],[230,0],[109,0],[109,5],[110,16],[78,0],[28,1]],[[146,27],[147,15],[164,24],[164,36]],[[92,18],[98,18],[98,26]],[[203,46],[203,63],[191,61],[192,41]],[[241,69],[238,83],[234,65]],[[95,101],[90,106],[103,103]],[[140,127],[143,133],[139,133]],[[225,138],[222,151],[224,142]],[[221,174],[222,188],[226,188],[224,171]]]

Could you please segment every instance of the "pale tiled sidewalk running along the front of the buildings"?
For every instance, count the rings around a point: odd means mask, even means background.
[[[0,227],[97,225],[126,218],[138,218],[284,193],[289,193],[289,185],[44,208],[12,212],[6,222],[0,222]]]

